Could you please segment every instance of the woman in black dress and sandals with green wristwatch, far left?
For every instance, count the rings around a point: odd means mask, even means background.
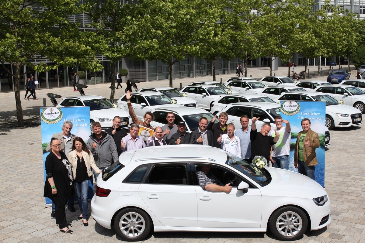
[[[59,231],[72,234],[72,230],[69,229],[72,225],[67,223],[65,212],[67,199],[74,195],[72,167],[66,154],[59,151],[61,141],[52,138],[50,146],[52,150],[45,162],[47,175],[43,196],[49,197],[55,204],[55,218]]]

